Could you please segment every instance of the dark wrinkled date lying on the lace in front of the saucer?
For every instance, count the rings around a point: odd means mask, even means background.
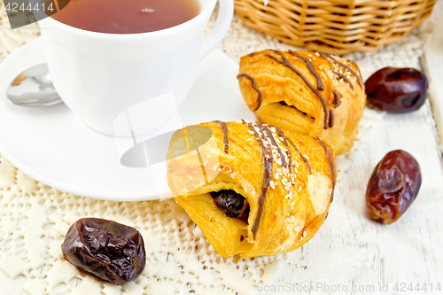
[[[144,270],[144,241],[134,228],[97,218],[75,221],[61,246],[63,256],[82,273],[123,284]]]

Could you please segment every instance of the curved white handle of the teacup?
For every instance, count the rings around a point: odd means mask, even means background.
[[[200,59],[206,57],[219,43],[223,40],[224,35],[228,32],[232,16],[234,14],[234,1],[233,0],[218,0],[219,12],[217,14],[217,20],[211,32],[206,36],[201,47]]]

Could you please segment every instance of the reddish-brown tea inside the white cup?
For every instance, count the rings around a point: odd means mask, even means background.
[[[136,34],[175,27],[199,12],[198,0],[71,0],[51,18],[87,31]]]

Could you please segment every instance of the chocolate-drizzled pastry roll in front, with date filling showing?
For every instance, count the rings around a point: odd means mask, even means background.
[[[323,224],[334,151],[314,137],[245,120],[175,132],[167,183],[223,257],[291,252]]]

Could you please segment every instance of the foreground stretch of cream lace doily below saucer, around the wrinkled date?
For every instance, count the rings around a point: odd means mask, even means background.
[[[223,259],[173,199],[109,202],[82,198],[36,182],[0,158],[0,268],[27,276],[29,294],[251,294],[269,282],[283,255]],[[62,258],[69,226],[96,216],[139,229],[145,240],[142,276],[123,287],[98,283]]]

